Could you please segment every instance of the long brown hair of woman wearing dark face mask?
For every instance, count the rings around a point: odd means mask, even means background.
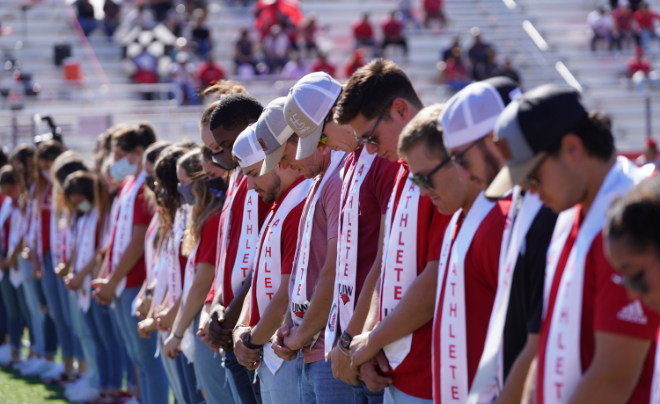
[[[195,205],[190,209],[188,224],[183,237],[182,252],[189,255],[195,249],[202,227],[206,221],[216,213],[224,202],[217,198],[206,184],[206,173],[202,168],[202,151],[197,148],[181,156],[176,162],[177,168],[181,167],[193,180],[193,192],[195,193]]]

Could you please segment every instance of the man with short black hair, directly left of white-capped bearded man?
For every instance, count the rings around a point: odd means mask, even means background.
[[[217,103],[210,115],[208,128],[212,136],[207,136],[205,126],[201,128],[202,140],[213,152],[213,162],[227,171],[233,170],[229,174],[218,232],[216,275],[205,301],[210,304],[210,315],[205,322],[208,323],[209,342],[225,351],[225,366],[234,375],[236,390],[245,403],[253,403],[256,398],[245,367],[231,352],[232,330],[251,284],[251,272],[245,264],[254,254],[251,246],[256,245],[270,206],[256,192],[247,189],[247,180],[232,156],[232,149],[238,135],[256,122],[262,112],[263,106],[255,98],[245,93],[229,94]],[[222,290],[216,290],[220,285]],[[218,356],[216,364],[221,360]]]

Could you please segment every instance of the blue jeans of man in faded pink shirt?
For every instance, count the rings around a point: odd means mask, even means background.
[[[330,361],[303,363],[300,386],[303,404],[353,402],[353,387],[335,379]]]

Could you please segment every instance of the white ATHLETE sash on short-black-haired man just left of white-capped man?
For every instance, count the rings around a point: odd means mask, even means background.
[[[243,181],[247,181],[244,177]],[[231,230],[230,230],[231,231]],[[241,222],[241,237],[238,240],[236,261],[231,271],[231,291],[234,296],[245,283],[245,278],[252,270],[252,257],[259,238],[259,194],[253,189],[247,191],[243,205],[243,220]],[[225,246],[226,250],[227,246]],[[226,265],[225,265],[226,267]],[[222,294],[225,306],[229,305],[228,294]]]

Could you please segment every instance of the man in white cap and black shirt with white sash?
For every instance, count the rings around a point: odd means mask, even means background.
[[[449,153],[483,188],[494,180],[505,162],[493,141],[495,122],[504,106],[519,95],[513,80],[494,77],[456,94],[440,117]],[[464,116],[472,121],[464,121]],[[510,196],[495,304],[479,371],[470,387],[471,399],[492,394],[499,395],[500,402],[520,401],[538,347],[545,251],[557,215],[542,208],[537,196],[525,195],[520,187]]]

